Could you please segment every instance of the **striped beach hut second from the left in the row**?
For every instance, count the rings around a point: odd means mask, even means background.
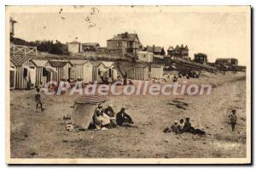
[[[35,65],[35,86],[44,86],[46,82],[52,81],[52,76],[56,72],[48,60],[32,59]],[[42,84],[41,84],[42,83]]]

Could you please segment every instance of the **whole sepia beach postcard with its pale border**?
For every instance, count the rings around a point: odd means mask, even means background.
[[[250,164],[250,6],[6,6],[6,163]]]

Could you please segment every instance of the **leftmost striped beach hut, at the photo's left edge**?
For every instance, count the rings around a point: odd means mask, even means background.
[[[15,66],[15,85],[17,89],[26,89],[34,87],[35,84],[32,81],[33,70],[35,66],[32,59],[26,55],[11,54],[11,65]],[[13,73],[13,72],[12,72]]]

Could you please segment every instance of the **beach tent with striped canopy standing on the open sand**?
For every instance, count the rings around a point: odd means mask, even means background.
[[[108,100],[108,95],[83,95],[74,100],[72,123],[73,126],[87,129],[90,125],[97,104]]]

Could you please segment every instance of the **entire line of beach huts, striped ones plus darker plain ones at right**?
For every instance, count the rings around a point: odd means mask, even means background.
[[[125,67],[126,65],[126,67]],[[26,55],[11,54],[9,82],[11,89],[44,87],[47,82],[114,82],[118,77],[134,80],[161,78],[162,65],[115,64],[111,61],[84,59],[32,59]]]

